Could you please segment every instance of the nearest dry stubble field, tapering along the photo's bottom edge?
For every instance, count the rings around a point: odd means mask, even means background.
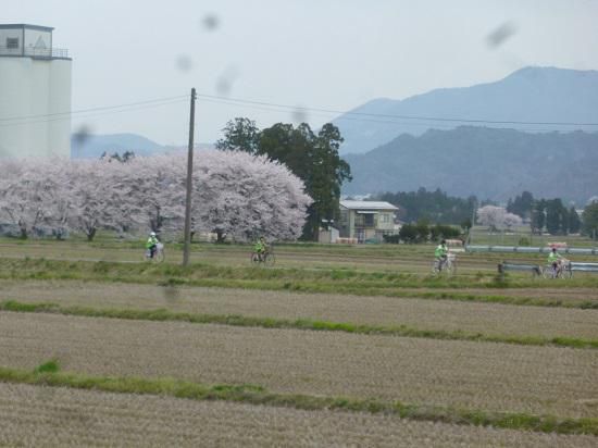
[[[0,446],[596,446],[583,435],[12,384],[0,384]]]

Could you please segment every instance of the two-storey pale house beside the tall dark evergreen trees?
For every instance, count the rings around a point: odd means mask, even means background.
[[[382,241],[384,235],[395,234],[395,213],[399,209],[382,201],[340,201],[341,238]]]

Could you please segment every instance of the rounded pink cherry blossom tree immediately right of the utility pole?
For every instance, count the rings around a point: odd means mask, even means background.
[[[201,229],[215,232],[220,239],[301,235],[311,198],[285,165],[266,155],[203,151],[194,172],[194,216]]]

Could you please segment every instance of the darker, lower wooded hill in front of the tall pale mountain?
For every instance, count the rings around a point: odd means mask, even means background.
[[[523,190],[585,203],[598,195],[598,133],[530,134],[462,126],[403,134],[365,154],[347,154],[344,194],[440,188],[506,201]]]

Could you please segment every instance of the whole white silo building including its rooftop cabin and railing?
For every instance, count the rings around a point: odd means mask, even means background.
[[[0,24],[0,158],[71,155],[71,64],[47,26]]]

